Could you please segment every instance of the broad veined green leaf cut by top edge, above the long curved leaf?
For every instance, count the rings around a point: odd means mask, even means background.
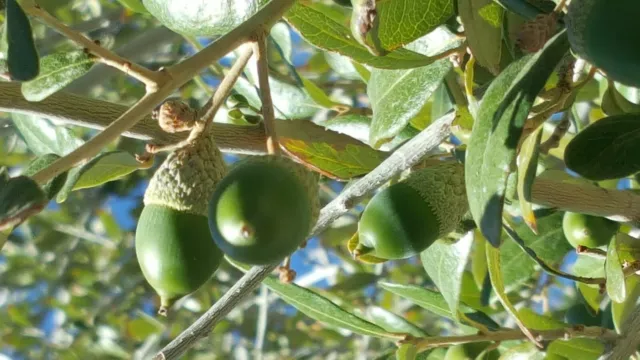
[[[454,15],[451,0],[388,0],[376,6],[378,38],[391,51],[430,33]]]

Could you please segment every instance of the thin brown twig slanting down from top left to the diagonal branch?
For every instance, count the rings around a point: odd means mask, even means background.
[[[91,54],[97,56],[101,63],[114,67],[143,82],[147,86],[148,91],[153,91],[168,81],[166,73],[162,71],[149,70],[144,66],[133,63],[121,56],[118,56],[112,51],[103,48],[91,39],[63,24],[37,4],[30,5],[29,2],[26,2],[24,11],[58,33],[66,36],[69,40],[72,40],[87,49]]]

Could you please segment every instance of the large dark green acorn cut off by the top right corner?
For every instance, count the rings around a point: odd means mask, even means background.
[[[572,0],[565,22],[571,49],[619,83],[640,87],[638,0]]]

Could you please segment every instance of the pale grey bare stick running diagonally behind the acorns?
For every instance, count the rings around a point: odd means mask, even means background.
[[[327,228],[335,219],[346,213],[364,196],[375,191],[393,176],[416,165],[429,151],[436,148],[450,134],[454,113],[434,121],[429,127],[396,150],[377,168],[345,189],[337,198],[320,211],[320,218],[312,230],[313,237]],[[154,360],[177,359],[196,341],[209,334],[236,305],[248,296],[275,268],[277,264],[253,267],[231,287],[207,312],[189,326],[177,338],[162,349]]]

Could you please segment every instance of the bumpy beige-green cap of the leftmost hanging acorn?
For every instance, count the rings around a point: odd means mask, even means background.
[[[226,174],[222,153],[209,131],[167,156],[149,182],[144,204],[207,216],[209,199]]]

